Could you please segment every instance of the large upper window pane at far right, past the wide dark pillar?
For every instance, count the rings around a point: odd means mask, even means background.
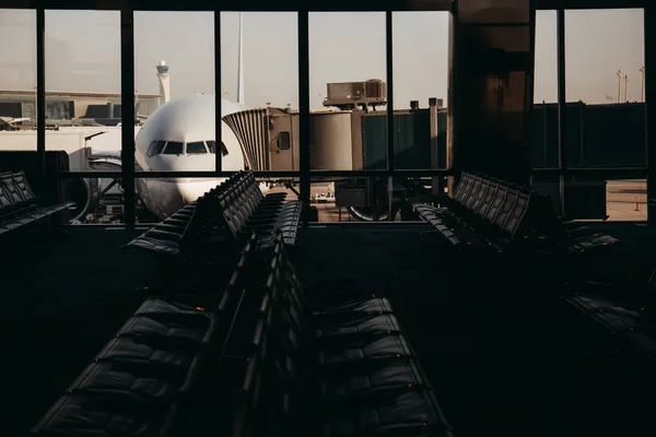
[[[641,9],[565,13],[570,168],[646,165],[643,15]]]

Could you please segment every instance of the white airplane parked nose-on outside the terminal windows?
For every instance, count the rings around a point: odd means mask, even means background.
[[[222,117],[246,109],[222,99]],[[244,169],[244,154],[232,129],[221,121],[222,146],[215,145],[214,96],[192,95],[166,103],[143,123],[134,140],[136,169],[154,172],[213,172],[214,153],[222,152],[226,172]],[[95,169],[120,167],[120,152],[94,154]],[[195,201],[223,178],[138,178],[136,188],[147,208],[160,220]]]

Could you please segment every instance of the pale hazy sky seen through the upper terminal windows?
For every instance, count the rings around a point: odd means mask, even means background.
[[[46,90],[120,92],[120,15],[46,11]],[[35,12],[0,10],[0,90],[33,90]],[[222,14],[222,95],[236,98],[238,13]],[[385,14],[311,13],[311,107],[328,82],[386,78]],[[171,66],[173,98],[214,93],[213,15],[136,12],[136,87],[159,92],[155,66]],[[447,91],[448,13],[394,14],[395,106]],[[567,99],[617,99],[617,71],[629,74],[629,99],[640,101],[644,59],[642,10],[567,11]],[[298,107],[295,13],[244,14],[246,104]],[[536,102],[557,99],[555,12],[539,11]],[[622,83],[622,98],[624,93]]]

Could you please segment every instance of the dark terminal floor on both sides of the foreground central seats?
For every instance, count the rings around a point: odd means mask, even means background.
[[[644,228],[613,226],[620,237],[644,239]],[[652,386],[634,363],[600,357],[612,339],[560,303],[564,290],[541,290],[540,277],[492,283],[476,263],[456,268],[435,235],[420,234],[427,229],[312,226],[294,258],[311,296],[389,297],[456,436],[655,434]],[[0,268],[0,435],[34,425],[141,303],[134,288],[157,282],[154,259],[119,249],[130,236],[71,229]]]

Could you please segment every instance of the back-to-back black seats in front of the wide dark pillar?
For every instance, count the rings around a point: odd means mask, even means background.
[[[467,172],[447,208],[425,203],[412,208],[458,247],[581,253],[620,243],[586,227],[563,225],[548,199],[536,191]]]

